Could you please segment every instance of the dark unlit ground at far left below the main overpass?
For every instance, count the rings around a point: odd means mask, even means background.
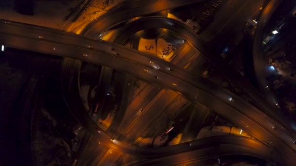
[[[61,60],[8,48],[0,52],[0,166],[32,165],[33,110],[37,112],[42,107],[49,111],[57,120],[57,137],[69,136],[60,134],[65,132],[63,124],[71,126],[72,120],[64,111],[67,108],[60,90]],[[69,120],[59,123],[63,116]]]

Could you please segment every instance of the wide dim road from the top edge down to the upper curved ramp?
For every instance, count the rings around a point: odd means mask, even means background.
[[[222,50],[230,39],[242,35],[245,24],[255,19],[266,0],[228,0],[211,24],[199,35],[216,50]]]

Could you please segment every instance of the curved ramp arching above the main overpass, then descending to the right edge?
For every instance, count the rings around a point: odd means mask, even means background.
[[[266,6],[266,9],[269,9],[269,6],[271,5],[273,5],[272,2],[270,2]],[[269,10],[268,12],[268,14],[272,13],[272,11]],[[165,28],[178,32],[187,40],[187,42],[190,42],[197,50],[200,50],[203,53],[204,57],[206,57],[206,59],[213,66],[216,66],[226,77],[232,80],[237,86],[243,89],[244,92],[248,94],[255,102],[257,102],[259,107],[262,108],[266,114],[277,119],[278,122],[283,124],[287,129],[295,132],[295,129],[293,129],[292,126],[296,126],[296,124],[289,116],[284,115],[278,111],[278,108],[275,105],[276,103],[274,105],[270,105],[269,103],[267,103],[266,99],[261,97],[259,95],[260,93],[250,83],[248,83],[239,73],[236,73],[230,66],[228,66],[228,63],[225,62],[225,60],[223,60],[219,55],[215,54],[215,52],[210,51],[210,48],[207,47],[203,40],[194,31],[192,31],[185,24],[179,21],[166,17],[140,18],[126,25],[120,31],[118,31],[118,33],[113,36],[112,41],[118,44],[124,43],[132,34],[146,28]]]

